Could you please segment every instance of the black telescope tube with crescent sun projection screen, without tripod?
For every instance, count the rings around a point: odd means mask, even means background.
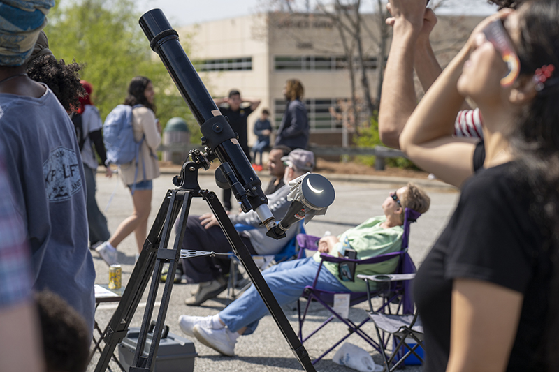
[[[262,224],[266,226],[268,237],[281,239],[285,231],[300,218],[305,223],[316,214],[326,213],[335,198],[330,181],[319,174],[308,174],[298,185],[298,192],[292,191],[292,204],[282,222],[277,225],[268,208],[268,198],[261,188],[261,181],[242,151],[235,133],[226,117],[215,105],[212,97],[182,49],[177,31],[172,29],[160,9],[150,10],[140,18],[140,27],[150,41],[150,47],[159,54],[161,61],[175,82],[182,98],[187,102],[202,132],[202,144],[207,153],[204,158],[212,161],[218,158],[222,163],[216,171],[218,186],[231,187],[242,211],[256,211]],[[207,166],[204,168],[208,169]],[[220,174],[221,173],[221,174]],[[315,186],[312,186],[312,185]],[[177,185],[178,186],[178,185]]]

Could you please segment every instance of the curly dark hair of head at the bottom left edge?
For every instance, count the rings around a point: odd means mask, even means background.
[[[91,336],[82,316],[59,295],[43,290],[35,295],[47,372],[85,372]]]

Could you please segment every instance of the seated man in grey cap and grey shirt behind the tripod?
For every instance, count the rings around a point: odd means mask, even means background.
[[[310,151],[295,149],[284,156],[282,161],[286,168],[284,172],[285,185],[275,193],[268,195],[268,207],[277,221],[286,213],[289,205],[287,200],[290,187],[289,181],[310,172],[314,168],[314,154]],[[261,221],[255,211],[230,215],[233,224],[241,223],[254,227],[239,233],[243,243],[252,255],[273,255],[281,251],[286,241],[296,235],[296,225],[292,225],[286,232],[285,239],[275,240],[266,236],[266,228],[261,226]],[[231,252],[231,245],[219,227],[217,218],[212,213],[202,216],[189,216],[184,232],[182,249],[194,251],[214,251],[217,253]],[[200,283],[193,297],[184,302],[189,306],[200,306],[203,302],[217,297],[227,288],[227,279],[230,268],[230,259],[219,257],[196,257],[182,260],[182,268],[189,283]]]

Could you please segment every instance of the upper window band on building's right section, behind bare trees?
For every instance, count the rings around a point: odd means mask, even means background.
[[[377,57],[365,57],[365,68],[375,70]],[[357,60],[354,62],[357,67]],[[275,70],[344,70],[348,67],[345,56],[276,56],[274,59]]]

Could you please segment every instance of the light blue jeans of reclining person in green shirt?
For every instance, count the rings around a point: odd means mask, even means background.
[[[280,306],[296,301],[307,285],[317,276],[319,262],[312,257],[281,262],[262,272]],[[320,270],[317,288],[332,292],[347,292],[347,288],[326,267]],[[259,320],[268,314],[268,308],[259,292],[251,285],[241,297],[231,302],[219,313],[219,318],[231,332],[247,327],[244,334],[252,334]]]

